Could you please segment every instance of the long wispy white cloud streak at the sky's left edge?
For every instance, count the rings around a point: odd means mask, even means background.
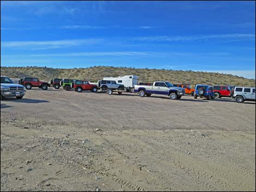
[[[58,40],[58,41],[2,41],[2,47],[29,47],[29,46],[78,46],[82,44],[97,44],[104,41],[103,39],[75,39],[75,40]]]

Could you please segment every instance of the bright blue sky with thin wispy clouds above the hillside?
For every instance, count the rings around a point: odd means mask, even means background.
[[[1,66],[94,65],[255,79],[255,2],[1,1]]]

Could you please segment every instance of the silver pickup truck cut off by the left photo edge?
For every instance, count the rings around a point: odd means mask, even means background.
[[[15,84],[9,77],[1,76],[1,100],[4,97],[21,99],[26,94],[24,86]]]

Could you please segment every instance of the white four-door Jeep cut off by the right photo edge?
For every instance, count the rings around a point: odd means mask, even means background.
[[[255,101],[255,88],[235,87],[233,98],[235,102]]]

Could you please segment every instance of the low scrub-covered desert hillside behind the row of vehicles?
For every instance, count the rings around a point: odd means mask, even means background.
[[[53,69],[48,67],[1,67],[1,76],[21,78],[25,76],[38,77],[41,80],[52,78],[88,79],[96,82],[106,76],[137,75],[139,82],[154,82],[167,80],[171,83],[239,85],[255,86],[254,79],[212,72],[174,71],[156,69],[132,69],[126,67],[95,66],[81,69]]]

